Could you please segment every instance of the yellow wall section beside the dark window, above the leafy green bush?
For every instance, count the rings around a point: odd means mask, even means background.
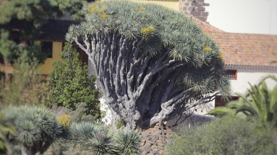
[[[53,70],[52,63],[53,61],[61,60],[60,54],[62,52],[63,43],[62,42],[53,42],[52,48],[52,58],[47,58],[44,61],[44,64],[40,66],[41,74],[49,74],[50,70]]]

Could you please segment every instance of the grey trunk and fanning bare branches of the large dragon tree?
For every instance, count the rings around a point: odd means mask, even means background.
[[[152,127],[215,98],[177,84],[176,70],[186,64],[170,58],[168,49],[151,55],[144,52],[143,40],[118,34],[84,38],[75,37],[75,42],[88,54],[106,102],[126,121],[127,129]]]

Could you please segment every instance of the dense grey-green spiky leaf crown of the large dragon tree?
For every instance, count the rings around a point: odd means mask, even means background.
[[[69,28],[67,41],[73,42],[76,36],[84,39],[85,35],[106,34],[143,40],[142,51],[150,56],[169,51],[171,59],[187,63],[178,73],[178,84],[193,87],[196,93],[229,92],[229,81],[223,76],[223,59],[216,43],[183,13],[160,5],[125,0],[88,3],[82,11],[85,21]]]

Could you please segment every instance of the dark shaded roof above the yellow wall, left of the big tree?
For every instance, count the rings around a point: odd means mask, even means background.
[[[48,20],[42,26],[42,35],[39,40],[65,42],[65,34],[68,32],[69,26],[76,23],[78,22],[72,20]]]

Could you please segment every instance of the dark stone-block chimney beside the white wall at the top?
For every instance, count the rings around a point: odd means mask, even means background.
[[[179,0],[178,3],[180,12],[202,21],[207,21],[209,13],[205,12],[204,6],[209,6],[210,4],[204,3],[204,0]]]

